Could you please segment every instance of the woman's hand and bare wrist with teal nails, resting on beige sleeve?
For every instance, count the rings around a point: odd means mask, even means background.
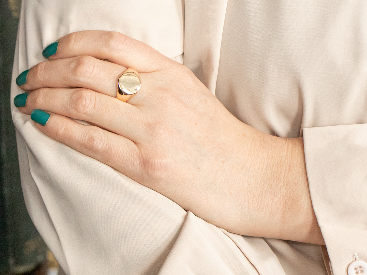
[[[230,232],[323,243],[302,139],[240,122],[185,66],[120,33],[69,34],[49,59],[18,79],[29,95],[15,99],[25,114],[46,112],[32,116],[41,132]],[[127,67],[142,87],[125,103]]]

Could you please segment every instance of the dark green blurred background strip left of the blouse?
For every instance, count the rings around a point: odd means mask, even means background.
[[[21,0],[0,0],[0,274],[30,271],[46,245],[26,211],[21,190],[10,83]]]

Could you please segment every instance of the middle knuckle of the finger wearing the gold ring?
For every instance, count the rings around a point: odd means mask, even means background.
[[[95,58],[88,55],[82,55],[76,58],[72,70],[72,77],[78,83],[87,82],[90,78],[95,77],[97,73]]]

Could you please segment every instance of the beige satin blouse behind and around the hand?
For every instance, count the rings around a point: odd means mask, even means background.
[[[78,30],[116,30],[183,62],[243,122],[303,132],[341,275],[353,253],[367,257],[366,11],[363,1],[23,1],[11,99],[42,49]],[[320,246],[228,233],[48,138],[14,106],[12,116],[30,216],[65,274],[326,274]]]

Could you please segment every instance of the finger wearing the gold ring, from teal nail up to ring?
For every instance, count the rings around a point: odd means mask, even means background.
[[[57,59],[38,63],[17,78],[22,89],[81,87],[116,97],[117,80],[126,68],[91,56]],[[23,83],[24,82],[24,83]]]

